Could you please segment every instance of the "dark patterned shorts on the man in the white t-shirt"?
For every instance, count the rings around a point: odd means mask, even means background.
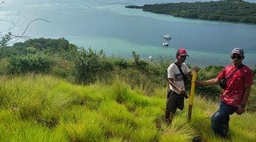
[[[175,113],[176,110],[184,108],[184,95],[177,94],[171,89],[167,90],[166,110]]]

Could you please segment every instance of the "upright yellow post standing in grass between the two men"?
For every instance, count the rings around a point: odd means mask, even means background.
[[[191,92],[189,94],[188,121],[191,120],[192,107],[193,107],[193,96],[195,94],[195,88],[196,88],[196,77],[197,77],[196,72],[193,71],[192,81],[191,81]]]

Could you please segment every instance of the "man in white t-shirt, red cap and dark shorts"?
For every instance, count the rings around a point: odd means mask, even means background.
[[[167,124],[171,123],[177,108],[183,110],[184,97],[187,98],[184,81],[191,77],[191,72],[184,62],[186,57],[188,57],[186,50],[180,48],[176,53],[176,61],[168,67],[169,90],[167,92],[165,118]]]

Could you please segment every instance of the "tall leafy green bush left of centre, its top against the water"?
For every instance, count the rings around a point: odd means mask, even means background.
[[[81,49],[75,60],[75,77],[79,83],[95,82],[97,77],[102,78],[111,70],[113,66],[107,62],[103,50],[96,53],[92,48]]]

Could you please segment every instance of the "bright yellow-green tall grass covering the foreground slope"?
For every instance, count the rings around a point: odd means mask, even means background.
[[[119,80],[80,86],[46,75],[0,78],[0,141],[220,141],[210,129],[218,104],[195,97],[193,115],[164,123],[166,89],[146,96]],[[256,141],[256,114],[234,114],[227,141]]]

